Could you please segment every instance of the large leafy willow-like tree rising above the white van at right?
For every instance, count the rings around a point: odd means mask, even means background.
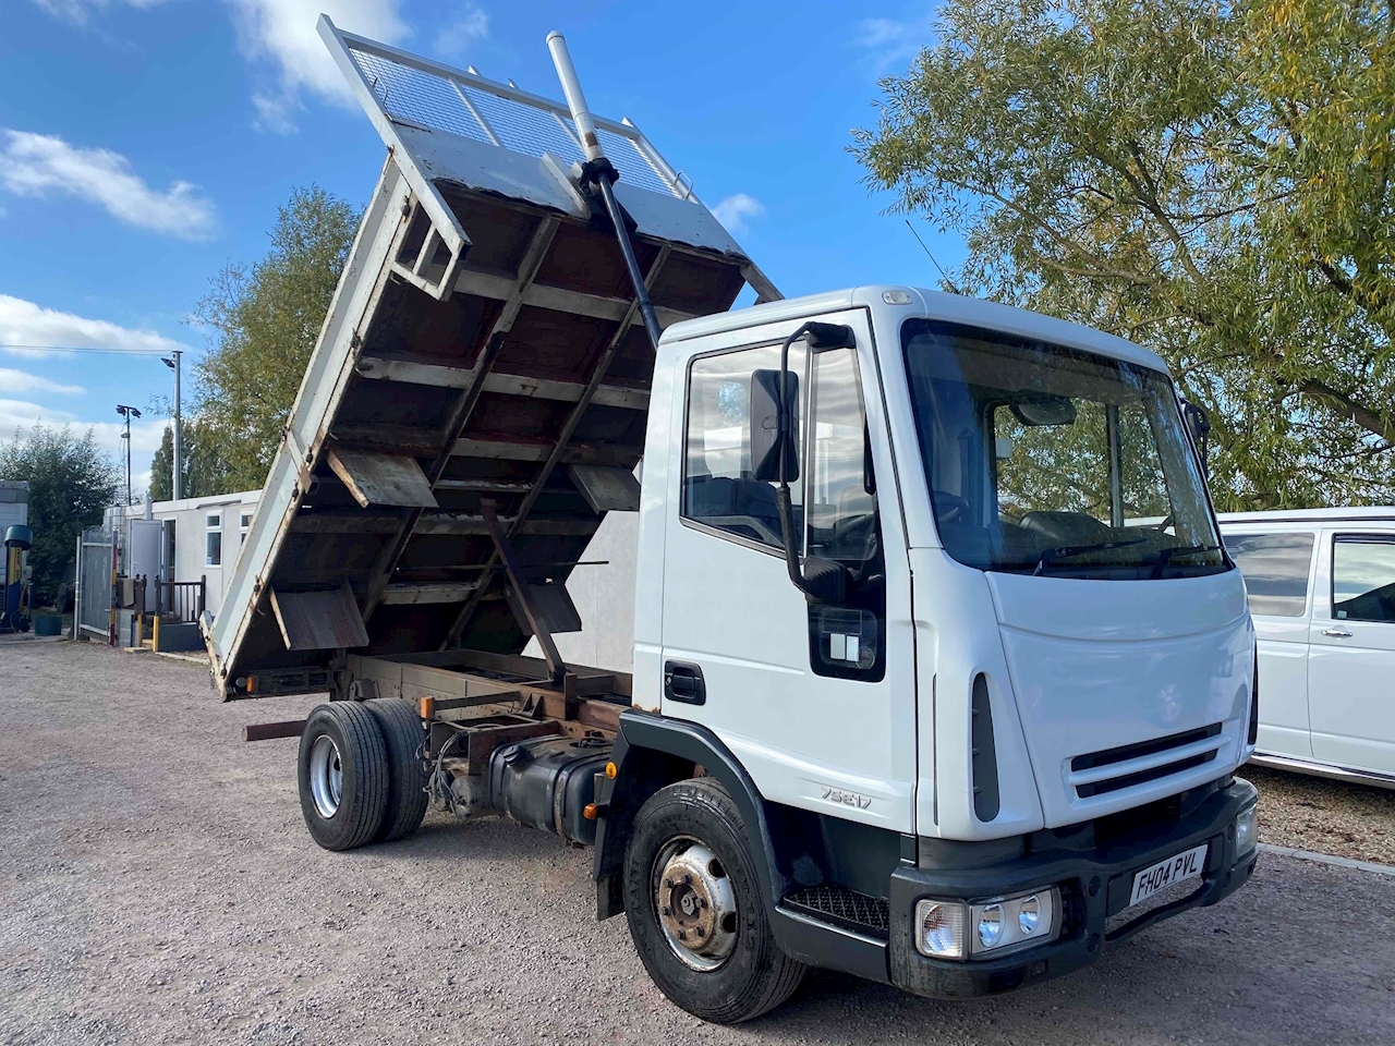
[[[855,134],[951,286],[1119,333],[1211,414],[1225,508],[1395,497],[1381,0],[947,0]]]

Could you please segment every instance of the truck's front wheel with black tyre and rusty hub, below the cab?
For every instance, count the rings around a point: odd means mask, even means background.
[[[625,847],[625,915],[649,976],[704,1021],[749,1021],[804,979],[770,932],[737,805],[710,778],[661,788],[640,808]]]

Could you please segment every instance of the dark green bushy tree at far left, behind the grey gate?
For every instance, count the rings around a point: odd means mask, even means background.
[[[119,480],[91,428],[77,437],[71,428],[40,424],[28,432],[15,430],[14,439],[0,446],[0,477],[29,484],[33,589],[40,602],[52,601],[60,584],[73,582],[78,533],[102,522],[124,477]]]

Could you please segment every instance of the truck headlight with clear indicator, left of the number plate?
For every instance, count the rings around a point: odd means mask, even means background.
[[[1059,911],[1060,891],[1053,886],[979,904],[921,901],[915,947],[930,958],[963,960],[1045,944],[1059,932]]]

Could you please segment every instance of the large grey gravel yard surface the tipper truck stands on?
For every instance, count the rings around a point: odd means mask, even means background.
[[[815,972],[739,1028],[670,1006],[589,852],[430,814],[399,844],[318,849],[294,741],[206,671],[0,643],[0,1043],[1391,1043],[1395,879],[1261,856],[1064,980],[936,1003]]]

